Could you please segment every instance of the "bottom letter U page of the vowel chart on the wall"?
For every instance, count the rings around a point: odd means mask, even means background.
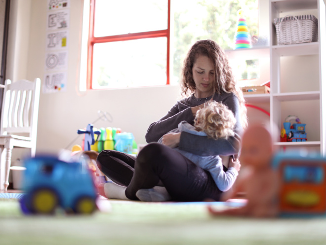
[[[43,93],[65,91],[67,72],[46,73],[43,80]]]

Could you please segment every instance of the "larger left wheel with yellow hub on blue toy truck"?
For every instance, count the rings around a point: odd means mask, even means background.
[[[49,189],[39,189],[32,196],[32,208],[36,213],[53,213],[57,205],[58,197]]]

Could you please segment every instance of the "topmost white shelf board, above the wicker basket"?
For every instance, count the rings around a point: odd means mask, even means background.
[[[272,0],[272,6],[279,12],[291,12],[305,9],[317,9],[317,0]]]

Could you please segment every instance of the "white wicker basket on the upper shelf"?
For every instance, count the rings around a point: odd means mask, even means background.
[[[274,19],[277,44],[318,41],[318,20],[314,15],[287,15]]]

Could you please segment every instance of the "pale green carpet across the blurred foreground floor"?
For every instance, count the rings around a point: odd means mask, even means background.
[[[24,216],[0,200],[1,245],[325,245],[326,219],[212,218],[205,205],[110,202],[92,216]],[[223,208],[219,206],[219,208]]]

